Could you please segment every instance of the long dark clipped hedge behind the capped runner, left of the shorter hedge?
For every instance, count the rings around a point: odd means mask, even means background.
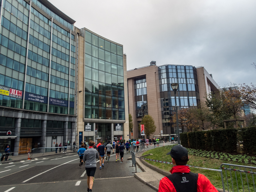
[[[233,128],[180,133],[184,147],[206,151],[236,152],[237,141],[237,130]]]

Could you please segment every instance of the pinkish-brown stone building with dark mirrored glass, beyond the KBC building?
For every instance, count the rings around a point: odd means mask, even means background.
[[[206,94],[218,90],[217,83],[204,67],[184,65],[150,66],[127,71],[129,113],[133,117],[133,137],[141,137],[137,130],[144,115],[150,114],[155,121],[155,137],[174,136],[176,130],[170,124],[175,111],[175,95],[170,84],[179,83],[178,110],[197,106]],[[181,130],[180,130],[181,131]]]

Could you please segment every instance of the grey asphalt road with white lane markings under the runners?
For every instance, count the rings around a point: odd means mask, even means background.
[[[152,146],[148,149],[153,148]],[[124,162],[115,162],[115,154],[104,168],[97,170],[93,191],[154,190],[134,177],[135,167],[127,160],[130,153],[124,153]],[[79,156],[59,153],[45,158],[36,158],[0,165],[0,192],[23,191],[86,191],[87,175],[84,165],[79,167]],[[137,167],[137,172],[141,170]]]

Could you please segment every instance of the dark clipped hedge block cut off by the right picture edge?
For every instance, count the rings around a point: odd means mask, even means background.
[[[243,151],[249,154],[256,154],[256,126],[242,129]]]

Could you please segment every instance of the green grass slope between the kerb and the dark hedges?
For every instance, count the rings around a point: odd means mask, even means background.
[[[170,155],[166,155],[166,153],[168,153],[170,151],[170,148],[172,146],[165,146],[165,147],[159,147],[159,148],[154,148],[151,149],[149,151],[146,151],[145,153],[143,153],[143,155],[152,153],[153,155],[147,156],[146,158],[150,158],[150,159],[156,159],[156,160],[161,160],[161,161],[167,161],[167,162],[172,162],[172,158]],[[153,162],[153,161],[147,161],[148,163],[155,165],[163,170],[166,171],[170,171],[170,169],[173,167],[173,165],[168,165],[168,164],[164,164],[164,163],[157,163],[157,162]],[[199,156],[195,156],[195,155],[190,155],[189,154],[189,161],[188,164],[192,165],[192,166],[198,166],[198,167],[206,167],[206,168],[213,168],[213,169],[219,169],[220,165],[222,163],[228,163],[228,164],[235,164],[235,165],[246,165],[246,166],[252,166],[251,164],[246,164],[246,163],[239,163],[239,162],[233,162],[233,161],[225,161],[225,160],[220,160],[220,159],[213,159],[213,158],[209,158],[209,157],[199,157]],[[233,168],[233,167],[231,167]],[[211,183],[218,188],[222,189],[222,182],[221,182],[221,174],[220,172],[217,171],[211,171],[211,170],[206,170],[206,169],[199,169],[199,168],[193,168],[190,167],[191,172],[194,173],[200,173],[205,175],[210,181]],[[244,169],[243,169],[244,170]],[[256,170],[252,170],[253,172],[255,172]],[[240,173],[236,172],[237,175],[237,180],[238,180],[238,187],[239,187],[239,191],[242,191],[242,184],[241,184],[241,178],[240,178]],[[233,185],[234,185],[234,190],[237,191],[237,187],[236,187],[236,175],[234,172],[232,172],[232,180],[233,180]],[[248,175],[248,181],[249,181],[249,188],[250,191],[254,191],[254,187],[253,187],[253,182],[252,182],[252,176],[251,174],[247,174]],[[223,172],[223,177],[226,177],[225,171]],[[232,191],[232,187],[231,187],[231,177],[229,172],[227,172],[227,177],[228,177],[228,183],[229,183],[229,190]],[[256,175],[254,175],[254,183],[256,182],[255,179]],[[245,173],[243,173],[243,185],[244,185],[244,191],[248,191],[248,187],[247,187],[247,179],[245,176]],[[225,183],[225,188],[227,189],[227,181],[224,180]],[[256,185],[256,183],[255,183]]]

